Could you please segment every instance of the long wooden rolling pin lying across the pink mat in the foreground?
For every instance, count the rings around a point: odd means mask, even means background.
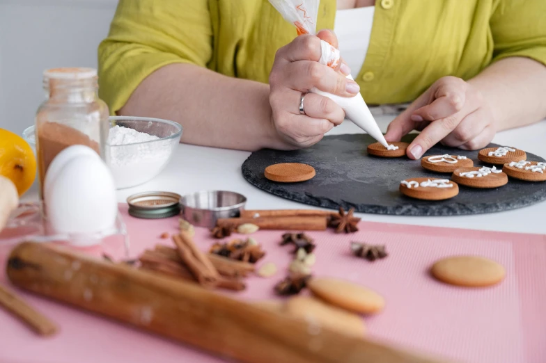
[[[242,362],[438,362],[59,246],[17,245],[7,273],[23,289]]]

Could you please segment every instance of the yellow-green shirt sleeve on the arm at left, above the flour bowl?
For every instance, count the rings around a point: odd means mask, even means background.
[[[208,0],[120,0],[98,49],[100,98],[114,114],[160,67],[205,67],[211,57]]]

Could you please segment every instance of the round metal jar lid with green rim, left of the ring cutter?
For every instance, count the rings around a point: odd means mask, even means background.
[[[129,214],[136,218],[159,219],[180,213],[180,195],[153,191],[137,193],[127,197]]]

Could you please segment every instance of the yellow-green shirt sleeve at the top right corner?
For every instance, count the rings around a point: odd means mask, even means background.
[[[546,0],[499,0],[490,26],[493,61],[521,56],[546,65]]]

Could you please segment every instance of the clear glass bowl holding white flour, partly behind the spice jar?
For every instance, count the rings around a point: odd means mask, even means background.
[[[110,145],[107,142],[104,161],[109,166],[118,189],[137,186],[156,177],[171,160],[182,136],[180,124],[169,120],[111,116],[109,122],[111,129],[116,126],[126,127],[157,136],[156,140],[125,145]],[[23,138],[36,150],[33,126],[23,131]]]

